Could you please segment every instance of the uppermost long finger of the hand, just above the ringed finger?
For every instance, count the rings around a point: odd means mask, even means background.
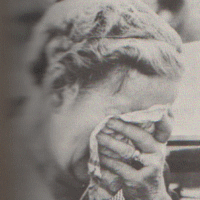
[[[157,150],[158,142],[142,128],[118,119],[110,119],[106,126],[130,138],[144,153],[155,153]]]

